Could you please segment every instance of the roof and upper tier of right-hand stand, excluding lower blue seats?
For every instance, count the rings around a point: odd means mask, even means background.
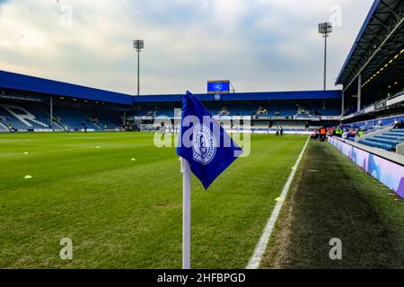
[[[343,86],[346,119],[358,121],[402,102],[403,14],[402,1],[373,2],[336,81]]]

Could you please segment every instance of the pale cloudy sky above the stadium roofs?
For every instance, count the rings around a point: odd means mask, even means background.
[[[373,0],[0,0],[0,70],[136,93],[322,88],[318,22],[334,82]]]

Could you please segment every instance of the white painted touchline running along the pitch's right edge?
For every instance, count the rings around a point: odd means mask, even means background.
[[[294,164],[294,169],[290,173],[289,178],[287,178],[285,187],[282,190],[282,193],[279,197],[286,198],[287,193],[289,192],[289,188],[292,184],[292,181],[294,180],[294,174],[296,173],[297,167],[299,166],[299,163],[303,158],[303,154],[307,148],[307,145],[309,144],[309,141],[310,141],[310,137],[307,139],[307,142],[304,144],[303,150],[300,153],[299,157],[297,158],[297,161]],[[261,263],[262,257],[264,256],[265,251],[267,250],[269,238],[271,236],[272,230],[274,230],[275,223],[277,222],[277,217],[279,216],[279,213],[282,209],[283,204],[284,204],[284,201],[282,200],[282,201],[278,201],[277,204],[275,205],[275,208],[274,208],[271,216],[268,219],[264,232],[262,233],[262,236],[259,239],[259,243],[258,243],[257,247],[254,249],[254,254],[250,258],[249,265],[247,265],[246,269],[258,269],[259,268],[259,264]]]

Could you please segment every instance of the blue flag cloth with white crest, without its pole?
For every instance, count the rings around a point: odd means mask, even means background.
[[[207,188],[242,155],[206,107],[189,91],[182,102],[177,154],[189,162],[190,170]]]

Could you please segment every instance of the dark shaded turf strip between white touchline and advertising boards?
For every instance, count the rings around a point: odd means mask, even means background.
[[[261,268],[403,268],[404,204],[394,199],[329,143],[311,142]],[[340,260],[329,257],[335,239]]]

